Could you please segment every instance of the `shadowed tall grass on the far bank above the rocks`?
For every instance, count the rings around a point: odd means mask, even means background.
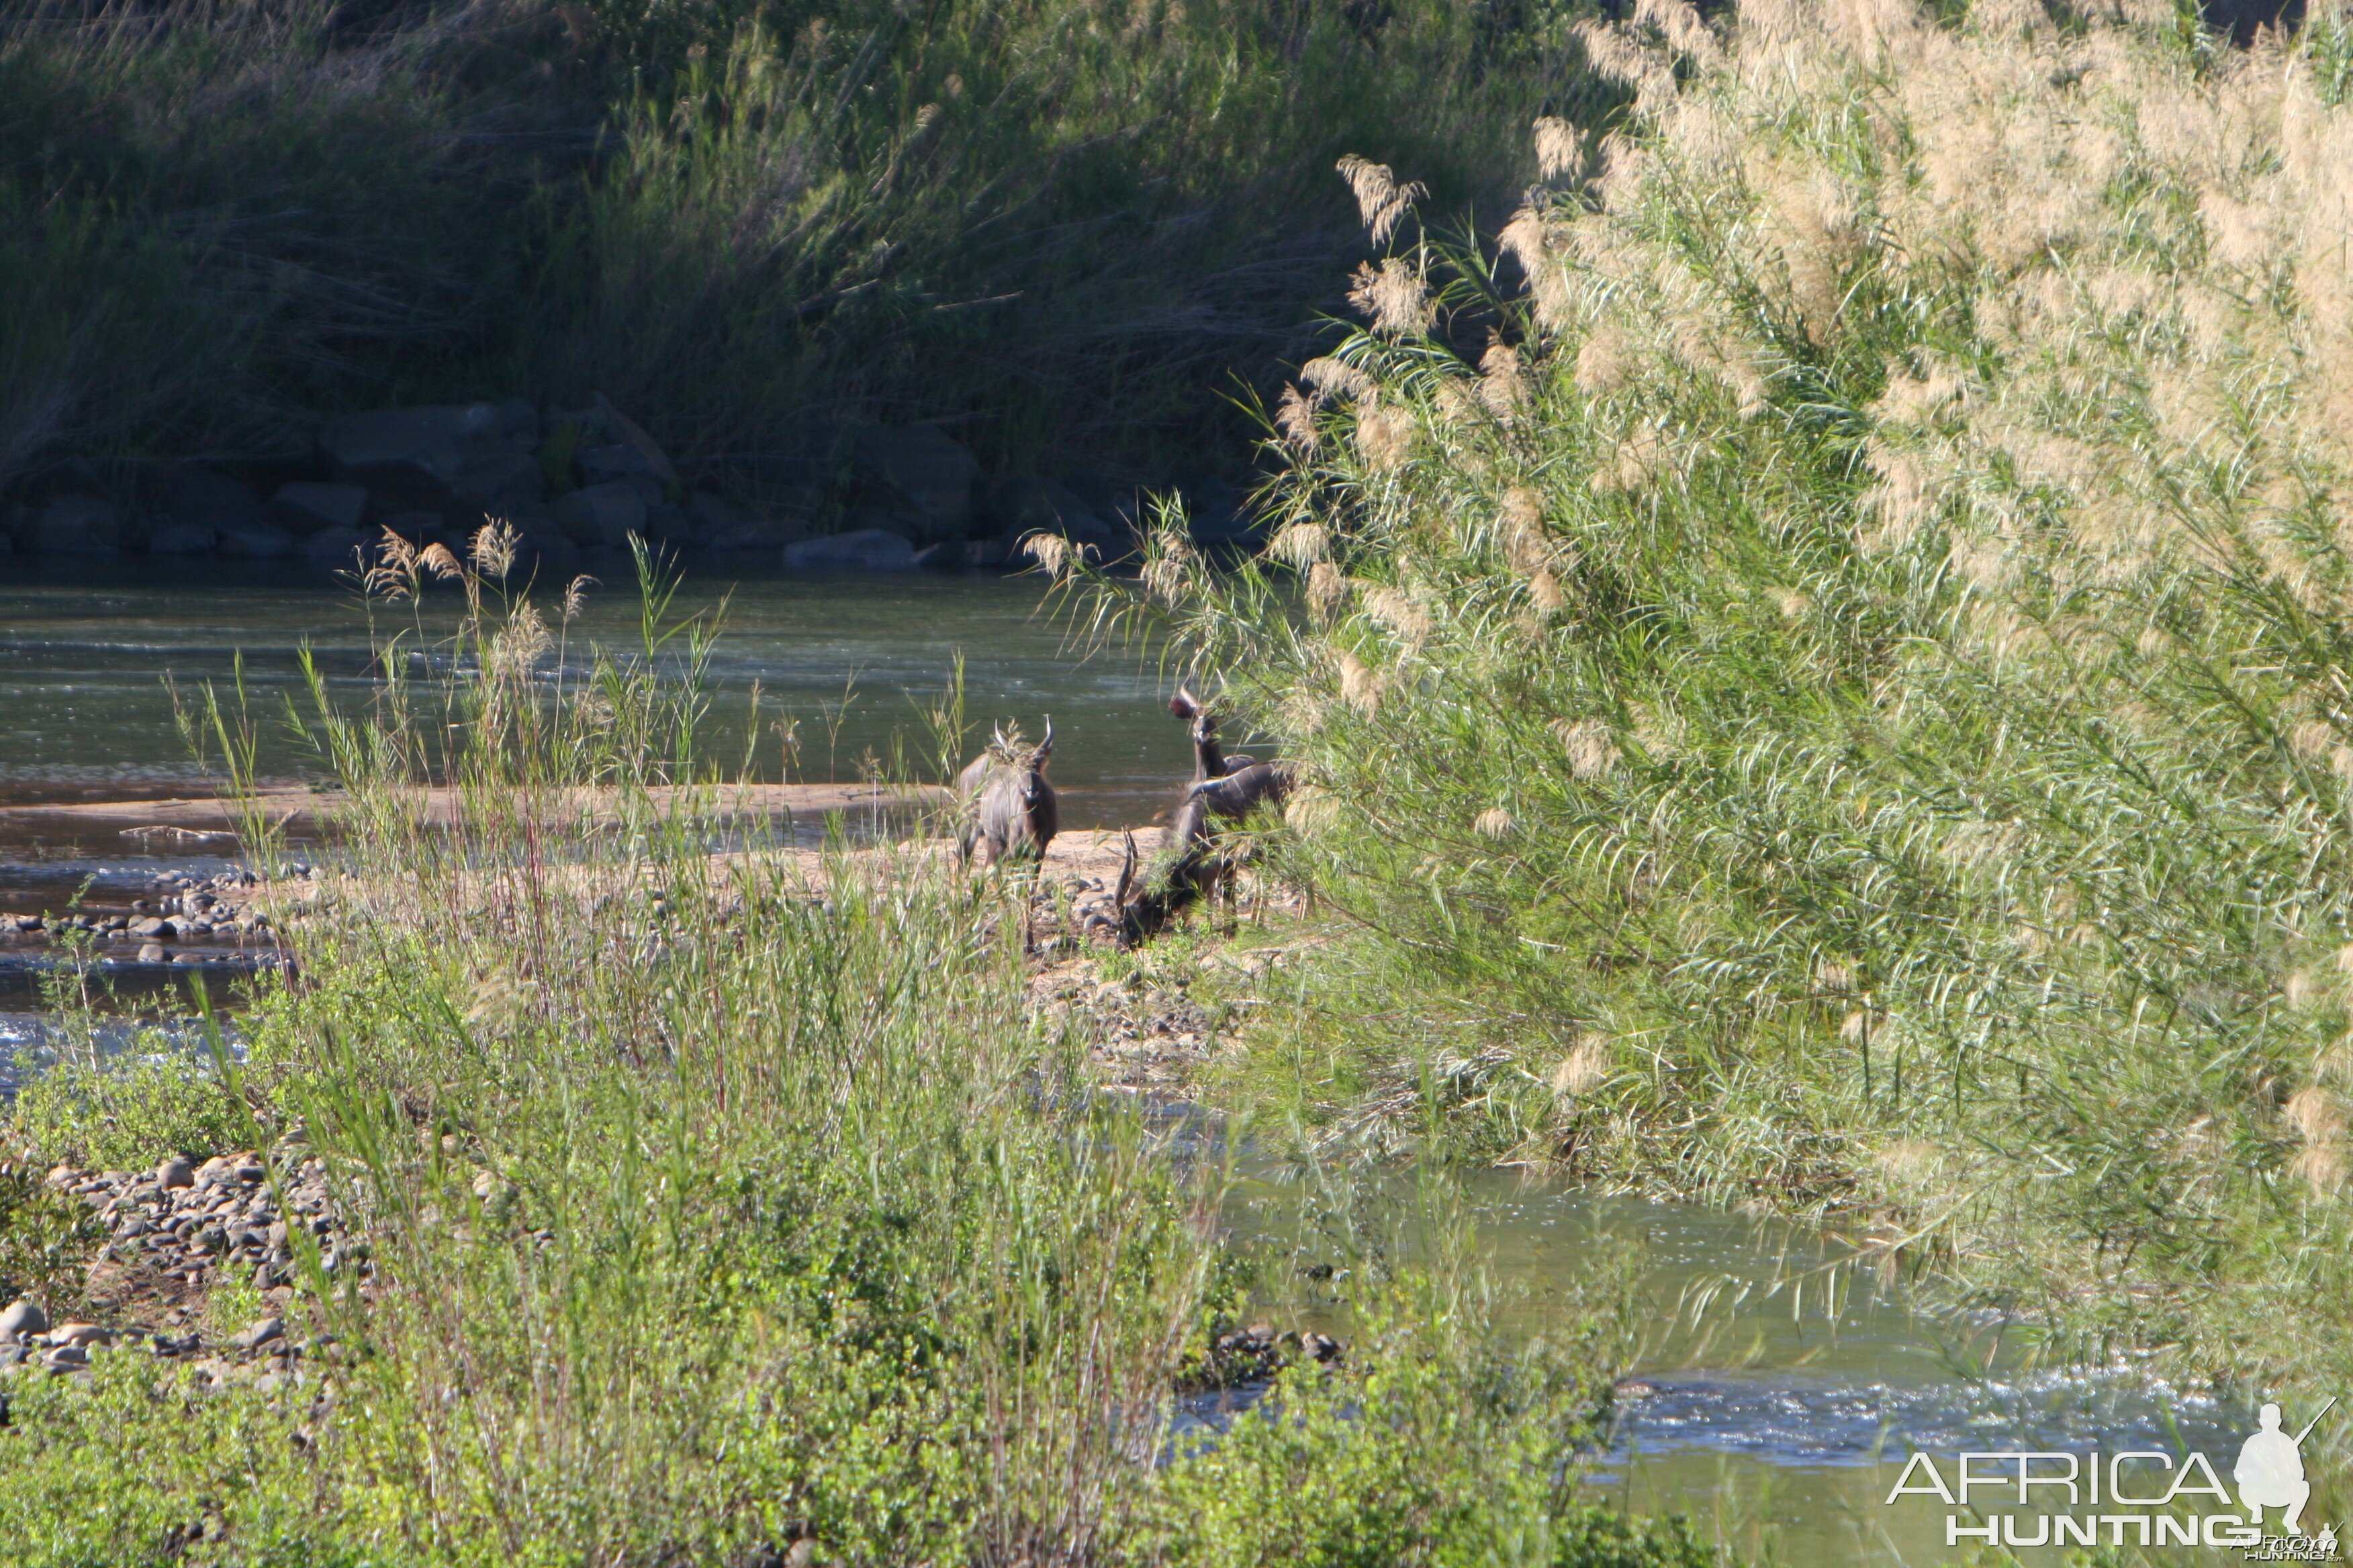
[[[932,0],[12,7],[0,477],[602,390],[689,470],[809,414],[1214,463],[1353,223],[1504,200],[1574,7]]]

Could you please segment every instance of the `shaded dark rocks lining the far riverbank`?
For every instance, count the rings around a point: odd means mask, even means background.
[[[1181,487],[1195,536],[1249,531],[1219,482]],[[795,571],[1026,567],[1021,541],[1059,534],[1096,559],[1134,550],[1146,498],[1094,473],[991,477],[936,425],[807,421],[776,451],[694,473],[635,421],[506,402],[374,409],[318,423],[308,451],[212,463],[61,461],[0,496],[0,557],[228,557],[348,571],[386,538],[471,555],[513,529],[518,571],[562,571],[645,541]]]

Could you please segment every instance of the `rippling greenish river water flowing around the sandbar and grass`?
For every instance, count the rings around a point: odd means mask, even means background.
[[[605,571],[619,583],[621,571]],[[866,752],[889,755],[894,741],[925,748],[922,710],[939,703],[958,656],[981,733],[993,719],[1038,733],[1052,715],[1068,825],[1144,820],[1188,769],[1184,729],[1162,708],[1169,679],[1134,656],[1080,658],[1035,581],[727,571],[689,578],[678,604],[722,597],[704,745],[729,762],[748,755],[760,778],[854,778]],[[454,595],[428,599],[419,637],[447,635],[456,611]],[[635,616],[626,585],[593,590],[569,632],[574,658],[581,642],[626,644]],[[388,623],[379,611],[379,630]],[[0,804],[200,783],[165,677],[186,696],[205,682],[226,689],[242,672],[249,708],[275,712],[301,701],[304,649],[336,701],[365,698],[369,623],[346,590],[301,569],[14,562],[0,574]],[[758,726],[748,722],[755,684]],[[779,722],[798,726],[791,759]],[[315,778],[320,766],[266,724],[261,771]],[[68,884],[127,900],[158,875],[202,877],[224,865],[122,842],[0,842],[0,907],[54,905]],[[21,1048],[31,1060],[49,1039],[24,992],[0,997],[0,1056]],[[99,1044],[155,1048],[120,1025]],[[0,1091],[12,1081],[0,1074]],[[1913,1448],[2113,1453],[2129,1441],[2228,1455],[2249,1429],[2238,1408],[2141,1380],[2033,1371],[2005,1349],[2017,1335],[2000,1321],[1915,1309],[1833,1237],[1501,1173],[1471,1180],[1459,1204],[1506,1312],[1525,1328],[1558,1319],[1595,1255],[1635,1260],[1652,1331],[1588,1486],[1631,1507],[1680,1509],[1760,1559],[1800,1568],[1958,1559],[1944,1542],[1946,1509],[1882,1502]],[[1318,1246],[1313,1213],[1294,1182],[1259,1171],[1242,1182],[1233,1222],[1261,1239],[1287,1237],[1304,1255]],[[1231,1415],[1207,1401],[1186,1420],[1214,1427]]]

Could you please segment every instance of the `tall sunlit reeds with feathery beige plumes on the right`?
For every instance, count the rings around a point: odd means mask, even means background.
[[[1301,762],[1365,933],[1268,1046],[1304,1105],[2344,1368],[2344,38],[1586,31],[1631,113],[1537,125],[1497,254],[1360,270],[1266,559],[1111,588]]]

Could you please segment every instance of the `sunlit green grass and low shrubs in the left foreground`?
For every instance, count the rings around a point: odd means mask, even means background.
[[[1713,1561],[1577,1500],[1607,1314],[1508,1342],[1445,1258],[1369,1269],[1344,1366],[1174,1443],[1214,1335],[1299,1288],[1252,1291],[1214,1159],[1092,1103],[1026,994],[1026,889],[713,856],[661,583],[638,649],[555,665],[560,611],[431,564],[468,592],[440,675],[299,715],[353,809],[280,907],[299,973],[216,1056],[240,1143],[320,1159],[365,1253],[304,1239],[296,1382],[132,1349],[9,1382],[9,1561]],[[376,588],[405,672],[409,585]],[[68,1110],[9,1140],[54,1157]],[[214,1340],[264,1309],[212,1298]]]

